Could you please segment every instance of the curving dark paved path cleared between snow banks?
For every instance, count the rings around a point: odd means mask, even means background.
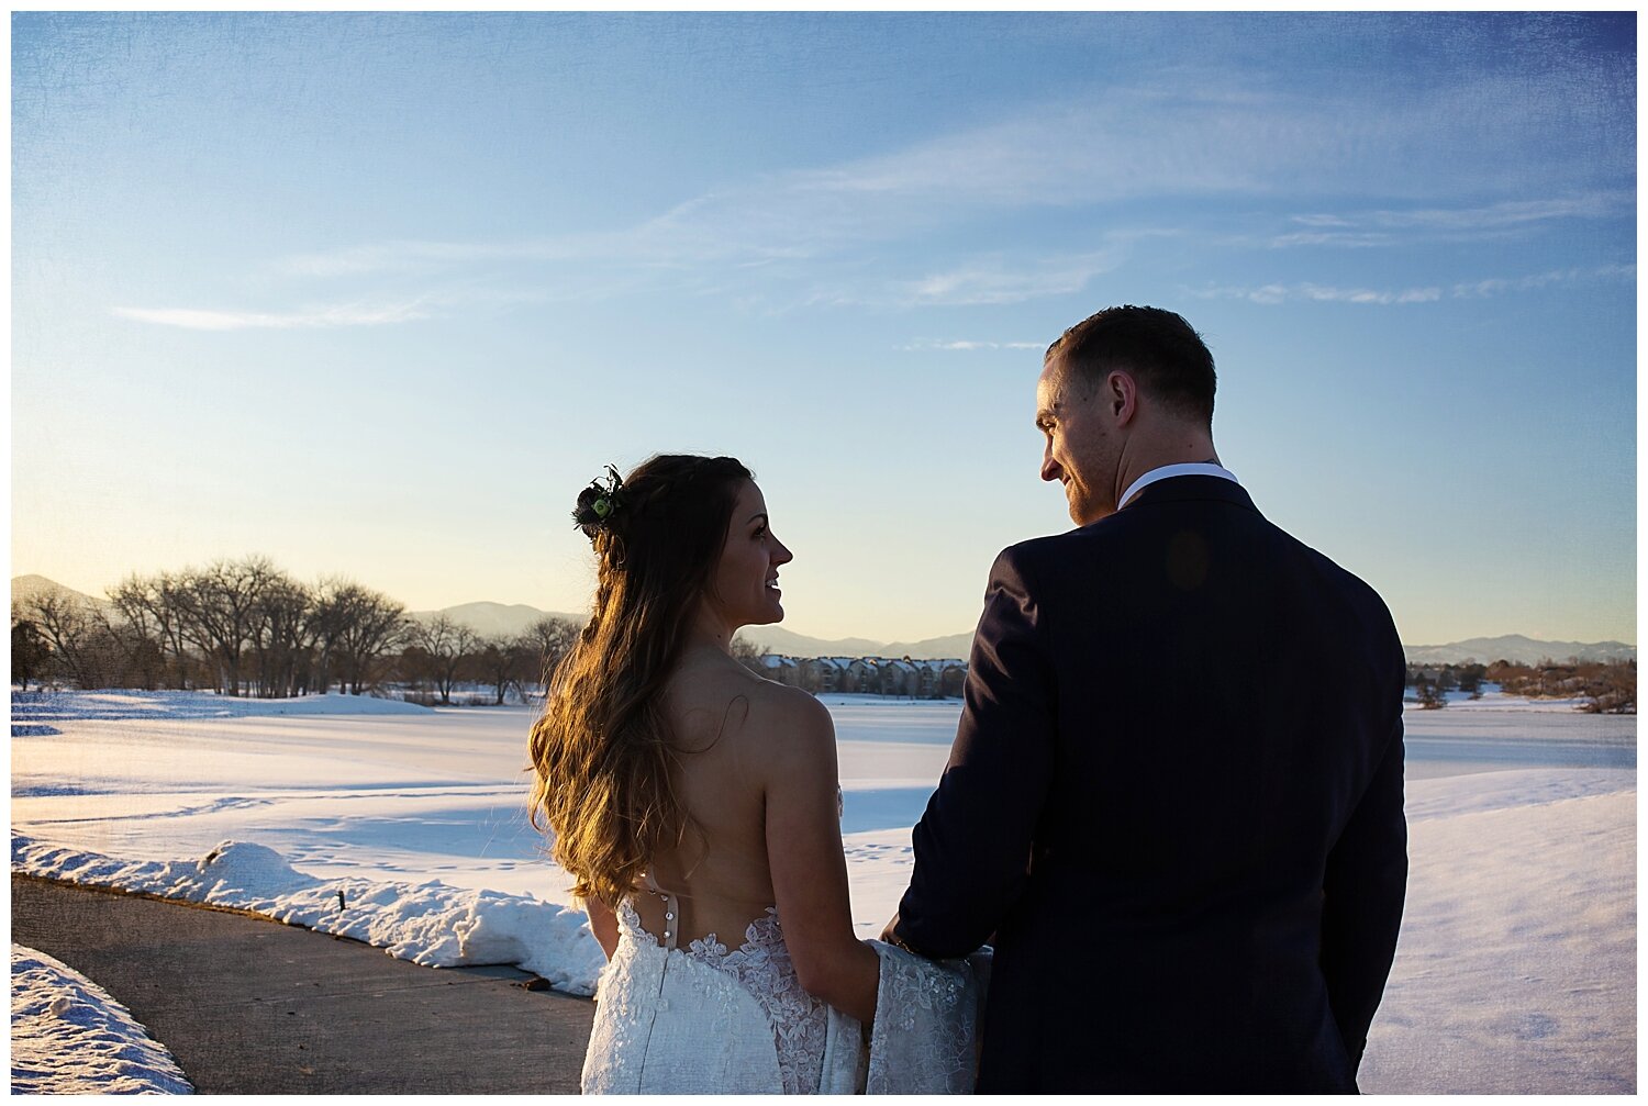
[[[12,877],[12,940],[125,1004],[213,1094],[577,1094],[595,1005],[221,910]]]

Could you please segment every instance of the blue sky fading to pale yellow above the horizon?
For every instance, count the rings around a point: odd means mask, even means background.
[[[1183,313],[1411,644],[1636,640],[1636,26],[16,13],[13,572],[582,610],[608,462],[755,471],[786,625],[1068,527],[1042,349]]]

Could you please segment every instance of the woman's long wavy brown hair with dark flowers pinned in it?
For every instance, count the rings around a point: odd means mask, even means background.
[[[532,725],[529,809],[580,898],[615,907],[686,832],[662,691],[747,480],[732,457],[659,455],[616,491],[578,496],[574,518],[598,559],[595,607]]]

